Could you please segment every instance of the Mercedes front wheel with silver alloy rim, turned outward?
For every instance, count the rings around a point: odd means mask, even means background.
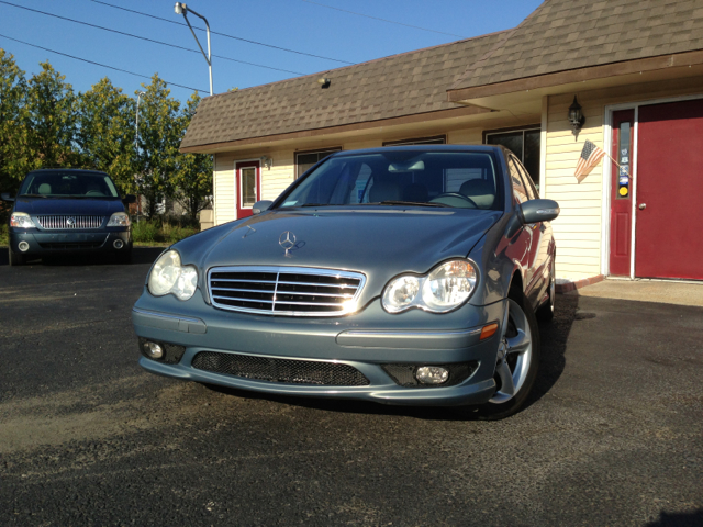
[[[501,325],[495,365],[495,393],[478,410],[478,418],[504,419],[523,406],[539,368],[539,328],[522,291],[511,291]]]

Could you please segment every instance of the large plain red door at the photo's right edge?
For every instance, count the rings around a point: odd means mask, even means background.
[[[703,99],[639,108],[637,277],[703,279]]]

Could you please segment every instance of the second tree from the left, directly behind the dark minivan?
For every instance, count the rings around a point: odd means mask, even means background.
[[[74,144],[78,119],[74,88],[48,60],[40,66],[42,71],[30,79],[26,98],[32,168],[80,165]]]

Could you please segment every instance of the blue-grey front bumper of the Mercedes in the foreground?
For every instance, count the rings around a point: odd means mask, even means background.
[[[417,310],[390,315],[378,299],[362,311],[338,318],[258,316],[216,310],[200,294],[187,302],[144,292],[132,312],[142,339],[185,347],[177,363],[142,356],[140,365],[156,374],[256,392],[295,396],[337,397],[398,405],[453,406],[486,403],[493,380],[500,328],[481,340],[481,328],[503,318],[505,302],[467,304],[447,314]],[[368,385],[314,385],[255,380],[193,367],[200,352],[248,358],[348,365]],[[403,386],[387,373],[387,365],[456,366],[476,370],[448,386]]]

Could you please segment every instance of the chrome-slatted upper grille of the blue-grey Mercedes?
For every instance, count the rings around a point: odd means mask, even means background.
[[[338,316],[356,311],[366,277],[308,267],[219,267],[208,273],[212,305],[284,316]]]

